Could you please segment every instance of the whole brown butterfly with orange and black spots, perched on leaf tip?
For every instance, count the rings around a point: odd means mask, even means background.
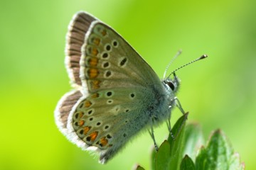
[[[100,152],[100,163],[142,130],[149,129],[154,140],[153,127],[169,121],[174,106],[185,113],[176,98],[175,72],[161,81],[121,35],[94,16],[76,13],[66,39],[74,90],[58,102],[55,123],[78,147]]]

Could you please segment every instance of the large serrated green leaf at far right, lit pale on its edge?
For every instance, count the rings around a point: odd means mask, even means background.
[[[228,138],[221,130],[210,136],[207,147],[196,157],[196,169],[244,169],[238,154],[234,153]]]

